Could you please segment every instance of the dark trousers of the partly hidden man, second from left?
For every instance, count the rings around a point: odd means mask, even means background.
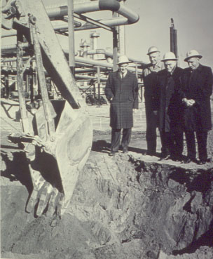
[[[146,109],[146,143],[147,153],[155,154],[157,146],[156,129],[158,127],[158,116],[155,115],[149,104],[145,102]]]

